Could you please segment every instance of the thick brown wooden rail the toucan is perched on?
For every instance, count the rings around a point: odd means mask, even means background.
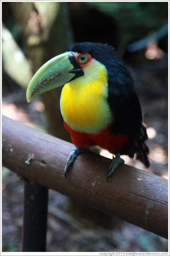
[[[57,126],[56,126],[57,129]],[[83,153],[64,176],[72,144],[2,117],[2,165],[85,206],[168,238],[168,180],[120,165],[106,182],[111,162]]]

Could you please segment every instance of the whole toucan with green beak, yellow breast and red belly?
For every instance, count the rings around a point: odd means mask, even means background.
[[[63,86],[61,116],[75,145],[66,162],[66,177],[77,155],[94,146],[113,154],[107,179],[124,163],[120,155],[134,158],[135,154],[149,166],[144,143],[148,136],[134,80],[112,46],[73,44],[35,73],[27,88],[27,101],[59,86]]]

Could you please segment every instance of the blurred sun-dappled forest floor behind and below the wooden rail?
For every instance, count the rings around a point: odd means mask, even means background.
[[[125,163],[168,179],[168,57],[129,66],[148,127],[150,167],[124,156]],[[46,130],[40,98],[2,88],[2,114]],[[105,153],[104,153],[105,154]],[[23,182],[2,168],[2,251],[21,251]],[[114,217],[96,213],[98,223],[73,211],[66,196],[49,190],[47,252],[167,252],[168,240]],[[76,208],[76,207],[75,207]],[[87,210],[88,212],[88,210]],[[79,216],[78,216],[79,215]],[[76,225],[75,225],[76,221]],[[110,223],[108,225],[108,223]]]

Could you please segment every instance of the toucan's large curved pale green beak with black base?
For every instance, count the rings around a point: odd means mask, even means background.
[[[83,75],[75,56],[71,52],[62,53],[46,62],[35,73],[27,88],[27,101]]]

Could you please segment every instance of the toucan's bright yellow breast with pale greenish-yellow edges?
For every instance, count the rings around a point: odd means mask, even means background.
[[[65,84],[60,108],[64,121],[73,130],[96,134],[112,122],[112,114],[107,103],[107,70],[95,59],[92,61],[84,76]]]

